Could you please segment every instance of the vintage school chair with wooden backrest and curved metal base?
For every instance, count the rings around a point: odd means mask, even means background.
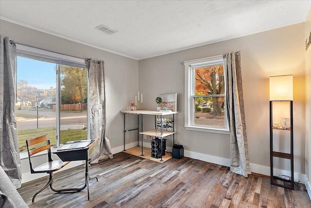
[[[35,137],[33,139],[27,139],[26,145],[27,145],[31,173],[49,173],[50,174],[49,182],[42,189],[40,189],[38,192],[35,193],[32,202],[35,202],[35,196],[38,195],[38,193],[40,193],[41,191],[45,190],[48,186],[50,186],[51,190],[55,192],[82,191],[84,189],[84,188],[83,189],[82,188],[55,189],[52,186],[53,185],[53,172],[60,170],[65,165],[68,165],[70,161],[63,162],[61,160],[52,160],[50,138],[48,135]],[[48,161],[43,163],[42,165],[39,165],[33,168],[33,165],[31,163],[31,160],[32,160],[31,157],[34,156],[35,154],[38,154],[46,150],[48,151]]]

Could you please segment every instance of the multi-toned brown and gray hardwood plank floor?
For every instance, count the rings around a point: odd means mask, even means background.
[[[93,164],[90,200],[87,190],[54,193],[47,188],[31,203],[48,178],[22,184],[18,192],[30,208],[311,208],[303,184],[295,191],[270,185],[270,177],[231,173],[227,167],[183,157],[164,163],[126,153]],[[85,168],[54,174],[54,186],[83,184]]]

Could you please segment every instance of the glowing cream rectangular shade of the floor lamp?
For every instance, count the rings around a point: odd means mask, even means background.
[[[293,100],[293,75],[269,77],[270,101]]]

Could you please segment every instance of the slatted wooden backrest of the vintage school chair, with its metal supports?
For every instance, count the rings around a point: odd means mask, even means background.
[[[35,137],[32,139],[27,139],[26,140],[26,146],[27,146],[27,151],[28,151],[28,157],[29,157],[29,164],[30,164],[30,170],[31,173],[34,172],[33,166],[31,163],[31,156],[40,153],[42,151],[48,150],[48,158],[49,162],[52,161],[52,156],[51,156],[51,144],[50,144],[50,137],[49,135],[43,135],[39,137]]]

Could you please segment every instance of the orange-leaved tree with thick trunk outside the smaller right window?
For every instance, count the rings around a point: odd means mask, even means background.
[[[195,94],[219,95],[225,94],[224,66],[210,66],[195,69]],[[224,97],[212,97],[213,116],[221,116]]]

